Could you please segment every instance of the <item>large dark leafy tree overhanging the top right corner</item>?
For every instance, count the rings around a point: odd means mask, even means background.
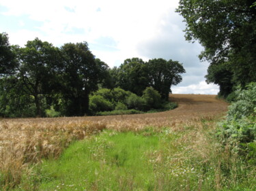
[[[227,79],[213,79],[216,69],[220,68],[215,65],[225,65],[225,72],[228,70],[232,74],[228,82],[230,86],[244,86],[256,81],[254,2],[255,0],[180,0],[177,12],[186,21],[185,37],[188,41],[198,40],[205,48],[199,58],[210,62],[207,80],[220,85],[221,89],[222,82],[227,82]],[[215,76],[226,78],[225,75]],[[224,84],[226,85],[227,83]]]

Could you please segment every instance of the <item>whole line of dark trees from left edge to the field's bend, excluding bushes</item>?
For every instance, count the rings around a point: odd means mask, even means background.
[[[35,38],[19,47],[0,33],[0,115],[43,117],[51,108],[61,116],[84,116],[90,114],[90,95],[101,88],[122,88],[142,96],[152,87],[167,100],[184,72],[181,63],[162,58],[129,58],[111,69],[85,41],[57,48]]]

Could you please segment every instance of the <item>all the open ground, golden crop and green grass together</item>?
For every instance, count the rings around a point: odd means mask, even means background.
[[[170,99],[153,114],[1,119],[1,190],[255,190],[255,167],[214,136],[228,104]]]

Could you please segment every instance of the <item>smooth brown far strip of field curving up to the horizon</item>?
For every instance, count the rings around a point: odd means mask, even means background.
[[[170,100],[178,103],[177,109],[163,111],[153,114],[134,114],[123,116],[93,116],[93,117],[74,117],[74,118],[22,118],[7,119],[5,123],[12,124],[52,124],[52,123],[70,123],[70,122],[102,122],[107,128],[122,125],[129,126],[130,123],[136,127],[144,125],[167,125],[186,122],[195,118],[212,118],[227,111],[227,103],[216,99],[216,95],[205,94],[170,94]],[[134,126],[135,127],[135,126]]]

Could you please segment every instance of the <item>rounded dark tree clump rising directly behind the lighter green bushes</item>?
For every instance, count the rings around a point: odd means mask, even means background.
[[[111,70],[116,87],[141,96],[145,88],[152,86],[158,90],[162,99],[166,100],[171,92],[171,86],[182,82],[180,74],[184,72],[185,69],[179,62],[162,58],[148,62],[141,58],[130,58],[124,60],[119,68],[114,67]]]

